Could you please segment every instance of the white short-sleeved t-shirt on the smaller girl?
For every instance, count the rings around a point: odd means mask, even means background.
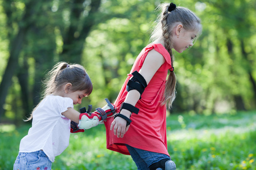
[[[19,152],[43,150],[51,162],[69,145],[70,122],[61,113],[73,108],[69,97],[46,96],[33,112],[32,127],[20,141]]]

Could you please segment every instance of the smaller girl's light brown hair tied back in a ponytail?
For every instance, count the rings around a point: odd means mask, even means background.
[[[60,91],[60,88],[67,83],[72,84],[72,92],[85,91],[87,96],[92,93],[93,85],[84,67],[79,64],[69,65],[67,62],[58,62],[53,66],[52,70],[46,74],[46,79],[43,81],[45,86],[42,99],[56,91]],[[26,121],[31,119],[32,114]]]

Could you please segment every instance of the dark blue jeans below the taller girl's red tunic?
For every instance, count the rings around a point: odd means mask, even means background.
[[[141,150],[135,147],[126,145],[127,149],[131,154],[131,158],[137,165],[138,170],[146,170],[151,164],[157,163],[162,159],[171,159],[170,156],[166,154],[160,154],[157,152],[150,152]]]

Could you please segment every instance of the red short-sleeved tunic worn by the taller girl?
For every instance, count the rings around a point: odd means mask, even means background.
[[[107,148],[109,150],[130,155],[125,146],[127,144],[142,150],[169,155],[166,135],[166,105],[162,105],[161,101],[166,86],[168,69],[171,67],[171,57],[162,44],[149,44],[142,50],[134,62],[133,68],[130,74],[128,74],[114,105],[117,107],[117,112],[119,112],[119,108],[127,96],[126,85],[133,76],[131,73],[141,69],[148,52],[152,49],[162,54],[165,62],[156,71],[141,95],[141,99],[135,105],[135,107],[139,108],[139,113],[131,114],[132,122],[123,138],[117,138],[113,130],[110,130],[113,117],[108,118],[108,121],[104,122],[106,126]]]

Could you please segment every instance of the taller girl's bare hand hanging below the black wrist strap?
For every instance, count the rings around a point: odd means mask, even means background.
[[[130,125],[126,126],[126,120],[121,117],[116,117],[110,126],[110,130],[114,128],[114,135],[117,135],[118,138],[122,138],[129,127]]]

